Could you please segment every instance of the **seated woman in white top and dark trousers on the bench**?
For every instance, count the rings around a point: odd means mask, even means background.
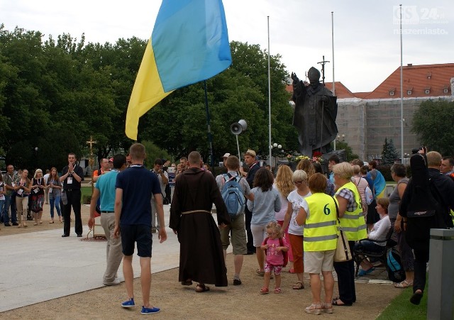
[[[389,221],[389,216],[388,216],[388,206],[389,206],[389,198],[377,199],[377,206],[375,207],[375,209],[377,209],[377,212],[380,215],[380,221],[377,221],[374,224],[374,227],[372,228],[370,233],[367,235],[367,239],[375,240],[375,241],[386,240],[388,231],[391,228],[391,221]],[[358,243],[355,243],[355,249],[380,253],[384,250],[385,245],[386,245],[386,242],[377,243],[377,242],[363,240]],[[360,270],[360,272],[358,272],[358,277],[360,277],[362,275],[367,275],[370,272],[372,272],[373,270],[375,270],[375,267],[367,259],[362,259],[361,268],[362,268],[362,270]]]

